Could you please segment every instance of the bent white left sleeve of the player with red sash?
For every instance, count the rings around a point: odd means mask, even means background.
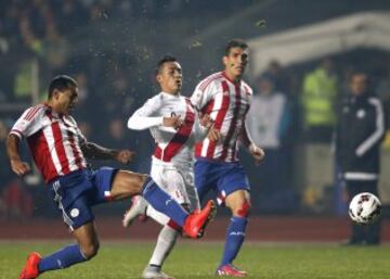
[[[128,121],[128,128],[133,130],[144,130],[152,127],[162,125],[162,116],[158,115],[158,111],[162,105],[162,101],[159,96],[156,96],[136,110]]]

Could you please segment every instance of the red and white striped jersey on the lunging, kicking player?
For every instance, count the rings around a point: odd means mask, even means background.
[[[34,161],[46,182],[86,168],[80,149],[86,138],[72,116],[58,115],[46,104],[27,109],[10,134],[27,139]]]

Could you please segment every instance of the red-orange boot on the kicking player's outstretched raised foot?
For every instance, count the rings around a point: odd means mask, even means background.
[[[213,201],[208,201],[206,206],[199,211],[191,214],[184,223],[183,232],[190,238],[202,238],[206,226],[214,217],[217,206]]]

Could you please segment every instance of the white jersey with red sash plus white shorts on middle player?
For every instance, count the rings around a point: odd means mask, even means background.
[[[162,126],[162,118],[179,116],[179,129]],[[150,129],[156,142],[152,156],[152,178],[181,204],[199,207],[194,187],[194,145],[207,129],[200,126],[190,99],[160,92],[140,107],[128,121],[130,129]]]

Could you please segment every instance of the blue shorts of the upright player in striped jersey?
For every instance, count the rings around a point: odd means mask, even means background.
[[[217,201],[220,204],[234,191],[250,191],[248,177],[239,162],[226,163],[197,158],[194,173],[195,187],[200,201],[210,190],[217,193]]]

